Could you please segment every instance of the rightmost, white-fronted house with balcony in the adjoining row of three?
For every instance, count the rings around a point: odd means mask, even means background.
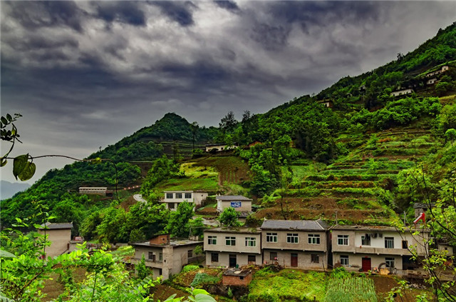
[[[333,264],[357,271],[369,271],[382,263],[398,270],[414,268],[409,248],[424,256],[423,241],[429,234],[428,230],[401,232],[388,226],[333,226]]]

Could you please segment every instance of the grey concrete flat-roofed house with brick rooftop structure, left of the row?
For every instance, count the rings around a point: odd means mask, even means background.
[[[166,280],[170,275],[180,273],[182,267],[197,260],[195,248],[202,246],[202,241],[189,239],[170,239],[169,234],[158,235],[150,241],[131,243],[135,248],[132,264],[138,264],[142,255],[145,266],[152,268],[154,277],[163,276]]]

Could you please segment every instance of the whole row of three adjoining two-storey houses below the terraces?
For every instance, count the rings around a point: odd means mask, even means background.
[[[388,226],[328,226],[324,221],[265,220],[261,228],[213,228],[204,231],[207,266],[276,264],[324,270],[343,266],[369,271],[417,268],[410,250],[425,256],[430,232]],[[452,256],[452,249],[447,249]]]

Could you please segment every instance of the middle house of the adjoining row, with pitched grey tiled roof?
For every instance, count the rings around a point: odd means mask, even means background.
[[[261,248],[265,263],[303,269],[328,266],[328,226],[321,220],[265,220]]]

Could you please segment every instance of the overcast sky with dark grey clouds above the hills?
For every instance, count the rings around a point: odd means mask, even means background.
[[[167,112],[217,126],[406,54],[453,1],[1,1],[1,115],[14,152],[84,158]],[[6,144],[2,144],[4,151]],[[36,160],[30,183],[68,160]],[[13,181],[11,164],[1,179]]]

